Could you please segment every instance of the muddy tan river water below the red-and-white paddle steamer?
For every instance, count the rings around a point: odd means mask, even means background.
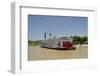
[[[54,50],[40,46],[28,47],[28,60],[79,59],[88,57],[88,47],[80,46],[76,50]]]

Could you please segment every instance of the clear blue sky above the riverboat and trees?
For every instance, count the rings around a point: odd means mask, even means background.
[[[88,18],[75,16],[28,15],[28,39],[44,39],[44,33],[52,36],[87,36]]]

